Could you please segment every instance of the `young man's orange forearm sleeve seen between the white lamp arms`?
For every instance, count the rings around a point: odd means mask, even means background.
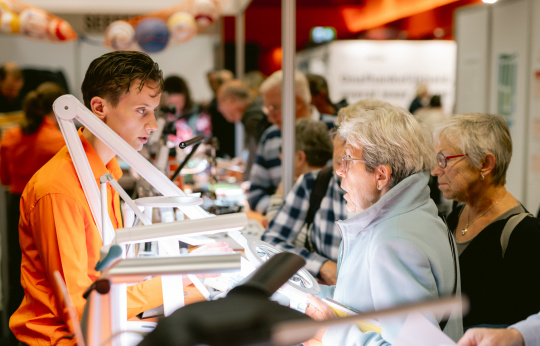
[[[156,276],[127,288],[128,319],[162,304],[161,276]]]

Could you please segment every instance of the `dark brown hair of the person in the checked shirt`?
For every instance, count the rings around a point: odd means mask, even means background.
[[[296,121],[295,150],[306,153],[310,166],[322,167],[332,158],[332,141],[322,121],[300,118]]]

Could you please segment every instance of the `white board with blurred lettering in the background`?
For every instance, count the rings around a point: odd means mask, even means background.
[[[408,109],[417,84],[424,82],[430,94],[441,95],[444,110],[452,112],[453,41],[334,41],[298,53],[297,66],[326,77],[334,102],[376,98]]]

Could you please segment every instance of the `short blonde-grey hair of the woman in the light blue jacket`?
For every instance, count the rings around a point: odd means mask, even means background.
[[[362,147],[367,171],[390,166],[390,187],[414,173],[430,171],[435,166],[435,152],[429,130],[405,109],[375,101],[340,111],[340,137],[350,146]]]

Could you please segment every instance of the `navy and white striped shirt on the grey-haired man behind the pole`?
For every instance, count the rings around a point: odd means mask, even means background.
[[[320,114],[313,107],[314,119],[323,121],[328,129],[334,127],[336,117],[328,114]],[[272,125],[262,134],[257,148],[257,157],[251,167],[251,186],[248,191],[247,200],[251,210],[261,214],[266,212],[270,204],[270,195],[276,192],[281,181],[281,130]]]

